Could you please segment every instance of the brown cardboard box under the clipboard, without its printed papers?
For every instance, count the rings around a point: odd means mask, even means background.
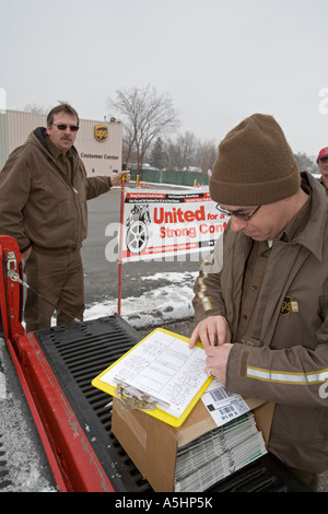
[[[274,404],[244,399],[267,445]],[[112,431],[156,492],[174,491],[177,448],[214,429],[216,425],[201,400],[185,423],[174,428],[140,410],[126,410],[119,399],[113,399]]]

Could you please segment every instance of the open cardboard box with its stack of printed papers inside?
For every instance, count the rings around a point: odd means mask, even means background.
[[[251,412],[218,428],[199,400],[174,428],[114,398],[112,430],[154,491],[204,491],[266,453],[274,405],[246,402]]]

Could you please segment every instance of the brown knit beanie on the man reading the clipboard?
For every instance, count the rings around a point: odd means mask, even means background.
[[[293,152],[272,116],[255,114],[219,145],[210,196],[225,206],[261,206],[294,195],[301,175]]]

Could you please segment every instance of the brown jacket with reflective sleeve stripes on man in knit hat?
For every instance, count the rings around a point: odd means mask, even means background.
[[[253,241],[242,232],[227,225],[203,261],[194,307],[198,322],[220,314],[230,324],[227,390],[276,402],[269,451],[289,466],[323,472],[328,469],[328,200],[314,177],[302,178],[311,200],[301,231],[291,238],[281,234],[266,257],[258,254],[267,261],[244,336],[239,315]]]

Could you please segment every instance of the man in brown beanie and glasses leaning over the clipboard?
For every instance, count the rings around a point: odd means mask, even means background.
[[[195,284],[207,371],[274,402],[269,451],[312,489],[328,469],[328,199],[277,121],[255,114],[219,147],[211,198],[231,218]]]

